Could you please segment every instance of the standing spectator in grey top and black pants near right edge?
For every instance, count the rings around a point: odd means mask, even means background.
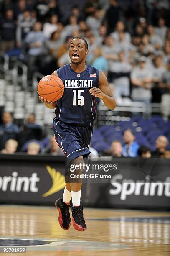
[[[162,82],[165,72],[166,69],[163,65],[162,56],[155,56],[154,68],[152,69],[152,102],[160,103],[161,101],[162,90],[159,87],[159,84]]]

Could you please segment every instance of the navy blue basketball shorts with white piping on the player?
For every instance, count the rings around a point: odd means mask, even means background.
[[[93,124],[77,127],[53,119],[53,131],[58,146],[63,150],[67,164],[78,156],[86,158],[89,154],[89,145],[93,133]]]

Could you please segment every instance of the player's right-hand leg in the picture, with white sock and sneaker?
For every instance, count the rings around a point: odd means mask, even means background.
[[[83,166],[84,160],[83,156],[76,157],[71,161],[71,164],[73,166],[77,166],[77,168],[74,171],[74,175],[80,175],[82,173],[82,166]],[[79,169],[78,169],[78,166]],[[78,231],[84,231],[87,229],[86,222],[84,220],[83,216],[83,206],[80,203],[81,198],[81,185],[82,185],[82,179],[74,179],[74,182],[70,183],[71,186],[71,197],[72,197],[72,223],[73,227]]]

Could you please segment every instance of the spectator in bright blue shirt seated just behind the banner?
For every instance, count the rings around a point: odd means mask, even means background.
[[[139,148],[138,143],[135,141],[134,133],[131,129],[127,129],[123,133],[124,145],[123,145],[123,156],[126,157],[137,157],[137,151]]]

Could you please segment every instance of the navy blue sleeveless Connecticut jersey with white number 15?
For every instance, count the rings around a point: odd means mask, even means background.
[[[63,123],[89,124],[94,122],[98,98],[89,89],[99,86],[99,70],[86,64],[86,69],[76,73],[70,64],[57,70],[64,84],[64,93],[56,106],[56,118]]]

